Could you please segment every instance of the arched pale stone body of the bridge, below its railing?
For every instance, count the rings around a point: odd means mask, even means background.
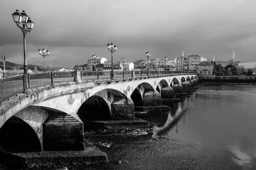
[[[197,74],[176,74],[32,89],[2,103],[0,142],[15,141],[17,148],[22,144],[34,151],[83,150],[85,120],[133,120],[134,106],[161,105],[161,99],[197,83]]]

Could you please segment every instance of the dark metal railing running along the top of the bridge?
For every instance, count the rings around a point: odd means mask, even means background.
[[[44,73],[24,74],[0,79],[0,106],[2,102],[19,93],[26,92],[27,89],[39,88],[46,85],[54,85],[63,82],[76,82],[81,80],[111,79],[111,71],[81,71],[81,76],[77,76],[79,71],[52,71]],[[193,71],[113,71],[113,79],[166,76],[173,74],[197,74]],[[26,85],[26,79],[27,84]],[[24,82],[25,81],[25,82]],[[27,87],[24,87],[27,86]]]

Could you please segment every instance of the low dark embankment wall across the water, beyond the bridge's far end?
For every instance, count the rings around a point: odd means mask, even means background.
[[[200,82],[256,82],[256,77],[199,77]]]

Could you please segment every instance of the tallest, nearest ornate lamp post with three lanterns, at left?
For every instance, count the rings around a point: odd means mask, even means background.
[[[26,92],[26,89],[28,88],[28,65],[26,62],[26,34],[30,32],[33,29],[34,22],[29,18],[29,16],[26,14],[26,12],[23,10],[21,13],[19,10],[16,10],[12,14],[13,20],[16,23],[17,27],[20,28],[20,30],[23,33],[23,47],[24,47],[24,81],[23,81],[23,87],[24,92]],[[22,23],[23,27],[19,26],[20,23]],[[27,29],[26,29],[27,28]]]

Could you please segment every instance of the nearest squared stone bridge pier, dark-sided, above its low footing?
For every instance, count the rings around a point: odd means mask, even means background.
[[[44,150],[84,150],[84,124],[73,116],[52,113],[43,128]]]

